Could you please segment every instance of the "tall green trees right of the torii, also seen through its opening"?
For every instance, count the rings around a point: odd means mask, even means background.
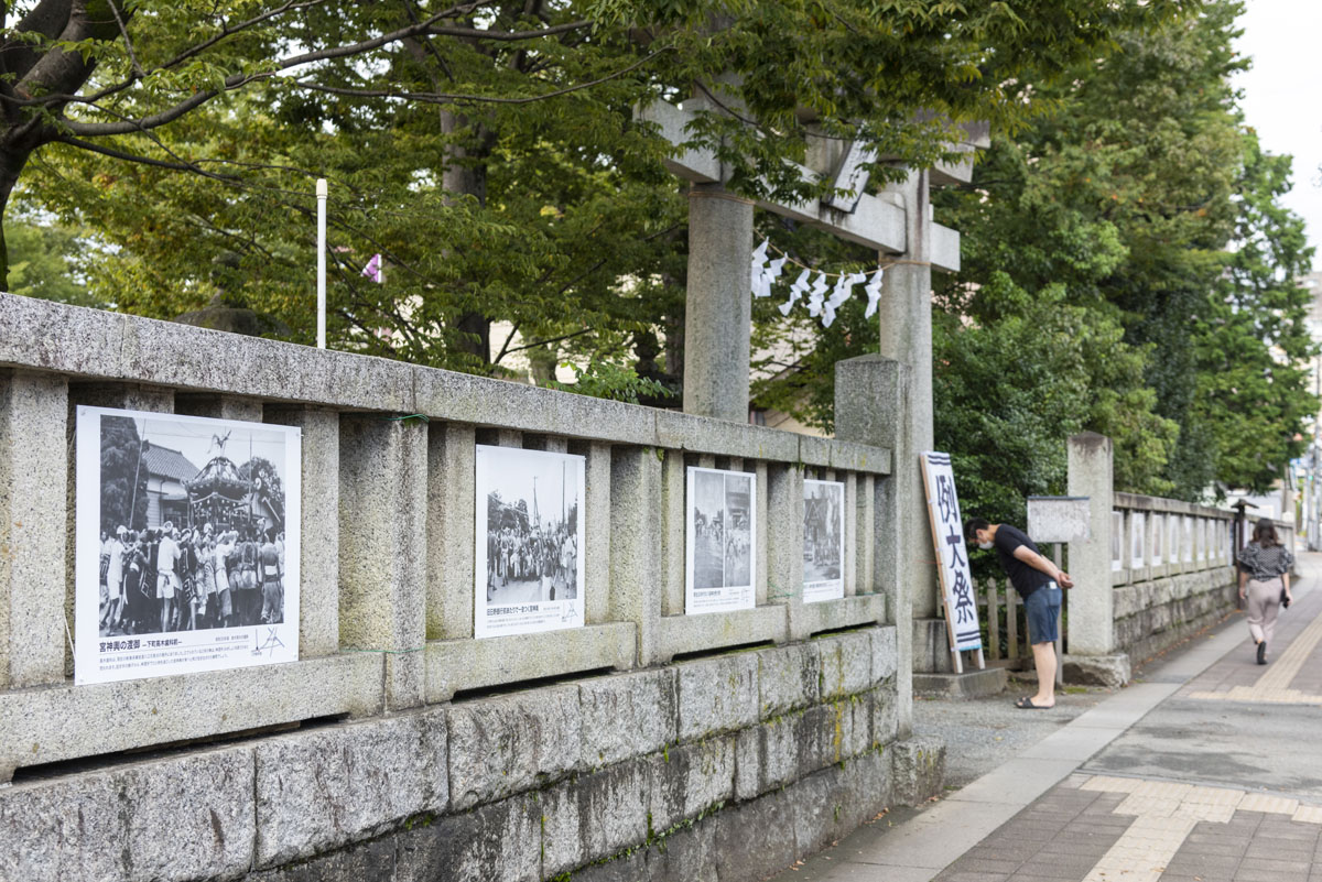
[[[1309,255],[1277,202],[1288,160],[1241,131],[1239,11],[1117,33],[1038,91],[1052,112],[997,135],[972,185],[933,197],[962,244],[958,276],[933,280],[936,442],[970,510],[1021,522],[1026,495],[1062,492],[1080,429],[1113,438],[1117,487],[1185,499],[1264,486],[1297,454],[1315,403],[1290,280]],[[874,351],[875,329],[851,304],[830,330],[777,333],[795,370],[760,400],[829,429],[834,362]]]

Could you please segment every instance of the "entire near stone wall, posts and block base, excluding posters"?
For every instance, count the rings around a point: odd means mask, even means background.
[[[74,685],[78,404],[300,426],[297,662]],[[940,790],[886,420],[801,437],[8,294],[0,413],[0,879],[754,879]],[[477,444],[584,457],[584,627],[473,638]],[[685,614],[690,465],[758,475],[754,609]],[[821,603],[805,478],[846,486]]]

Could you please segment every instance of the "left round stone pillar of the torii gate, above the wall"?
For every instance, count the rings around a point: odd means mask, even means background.
[[[685,413],[748,421],[752,209],[719,184],[689,190]]]

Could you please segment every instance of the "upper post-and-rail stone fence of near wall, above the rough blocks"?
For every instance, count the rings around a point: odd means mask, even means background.
[[[21,523],[0,582],[0,770],[886,621],[894,584],[874,545],[887,449],[17,297],[0,298],[0,475]],[[297,664],[73,685],[78,404],[301,428]],[[586,457],[586,627],[473,639],[477,444]],[[755,609],[685,615],[689,465],[758,475]],[[845,598],[802,603],[813,477],[846,486]],[[279,700],[247,701],[256,683]],[[61,737],[67,720],[98,737]]]

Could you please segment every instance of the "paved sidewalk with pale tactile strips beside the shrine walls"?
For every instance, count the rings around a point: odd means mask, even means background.
[[[1322,555],[1300,568],[1269,664],[1236,618],[776,882],[1322,882]]]

